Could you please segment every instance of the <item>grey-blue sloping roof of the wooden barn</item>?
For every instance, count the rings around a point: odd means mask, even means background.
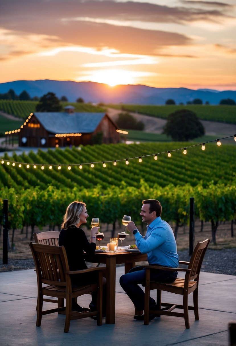
[[[36,112],[35,117],[52,133],[92,133],[106,113]]]

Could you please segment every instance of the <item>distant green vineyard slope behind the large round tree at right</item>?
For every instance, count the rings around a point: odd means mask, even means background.
[[[202,120],[226,122],[236,124],[236,106],[210,106],[210,105],[165,105],[149,106],[141,104],[110,104],[107,107],[120,109],[120,111],[135,112],[149,115],[156,118],[166,119],[169,114],[179,109],[189,109],[196,113],[197,117]]]

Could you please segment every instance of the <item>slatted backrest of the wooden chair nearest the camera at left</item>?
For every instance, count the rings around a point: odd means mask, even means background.
[[[64,246],[29,243],[38,282],[48,285],[66,286],[65,271],[69,271],[69,264]]]

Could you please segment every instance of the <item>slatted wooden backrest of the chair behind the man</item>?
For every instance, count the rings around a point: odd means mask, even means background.
[[[189,280],[194,280],[198,278],[203,258],[205,256],[210,239],[206,239],[203,242],[199,242],[192,254],[189,262],[189,269],[191,269]]]

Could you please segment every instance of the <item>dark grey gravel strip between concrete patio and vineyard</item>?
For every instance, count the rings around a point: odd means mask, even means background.
[[[181,261],[189,261],[189,251],[179,251]],[[8,264],[0,264],[0,272],[35,268],[33,258],[28,260],[8,260]],[[208,249],[201,270],[203,272],[236,275],[236,248],[211,250]]]

